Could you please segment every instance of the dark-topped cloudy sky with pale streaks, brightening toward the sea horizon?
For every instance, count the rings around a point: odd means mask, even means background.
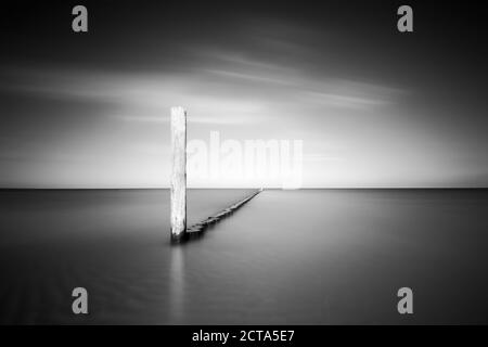
[[[167,187],[175,105],[190,140],[303,140],[304,187],[487,187],[477,2],[406,2],[410,34],[344,2],[81,1],[87,34],[78,2],[2,5],[0,187]]]

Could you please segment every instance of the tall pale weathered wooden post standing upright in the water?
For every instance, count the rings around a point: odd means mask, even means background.
[[[171,107],[171,240],[187,232],[187,112]]]

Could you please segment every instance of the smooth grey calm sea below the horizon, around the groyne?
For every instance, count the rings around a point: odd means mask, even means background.
[[[249,192],[191,190],[190,223]],[[269,190],[177,246],[167,190],[1,191],[0,210],[0,323],[488,323],[487,190]]]

